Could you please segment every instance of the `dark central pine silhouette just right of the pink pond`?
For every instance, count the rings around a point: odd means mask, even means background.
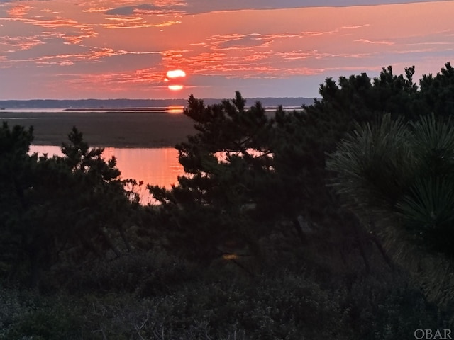
[[[263,225],[253,217],[270,204],[263,193],[273,171],[272,121],[260,103],[246,108],[238,91],[232,101],[209,106],[190,96],[184,114],[198,131],[177,145],[187,174],[170,191],[148,187],[163,204],[173,246],[208,262],[225,242],[255,249]]]

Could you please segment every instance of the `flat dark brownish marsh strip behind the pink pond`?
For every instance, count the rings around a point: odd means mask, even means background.
[[[61,145],[76,126],[92,147],[174,147],[196,131],[182,113],[163,111],[0,111],[0,122],[33,125],[33,145]]]

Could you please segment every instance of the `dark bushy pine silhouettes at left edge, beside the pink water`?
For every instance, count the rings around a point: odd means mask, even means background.
[[[36,286],[40,273],[55,263],[71,266],[118,256],[129,248],[123,229],[131,208],[115,158],[89,148],[76,128],[63,143],[63,157],[28,155],[33,130],[6,123],[1,130],[1,229],[4,275]],[[72,254],[72,255],[70,255]]]

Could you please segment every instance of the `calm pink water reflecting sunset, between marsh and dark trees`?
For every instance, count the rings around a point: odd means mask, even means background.
[[[60,147],[50,145],[31,145],[30,152],[47,153],[62,156]],[[143,204],[156,203],[146,189],[147,184],[170,188],[177,183],[177,176],[184,174],[184,169],[178,162],[177,149],[173,147],[128,149],[104,148],[104,159],[115,156],[117,167],[121,171],[122,179],[143,181],[140,188],[140,202]]]

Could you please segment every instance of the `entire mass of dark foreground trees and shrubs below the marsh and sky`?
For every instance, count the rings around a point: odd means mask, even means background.
[[[73,128],[0,129],[0,339],[413,339],[453,327],[454,70],[326,79],[299,111],[189,97],[140,206]]]

